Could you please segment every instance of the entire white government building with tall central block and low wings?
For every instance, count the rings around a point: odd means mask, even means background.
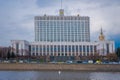
[[[99,41],[90,42],[88,16],[35,16],[35,42],[11,40],[13,52],[20,56],[89,56],[115,52],[114,41],[105,40],[103,31]]]

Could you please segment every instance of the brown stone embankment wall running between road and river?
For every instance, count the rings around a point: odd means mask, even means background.
[[[0,70],[120,72],[119,64],[19,64],[0,63]]]

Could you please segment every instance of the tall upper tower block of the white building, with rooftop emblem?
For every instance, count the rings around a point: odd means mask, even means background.
[[[90,42],[88,16],[35,16],[36,42]]]

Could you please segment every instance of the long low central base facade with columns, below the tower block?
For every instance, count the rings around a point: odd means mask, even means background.
[[[97,51],[95,42],[34,42],[30,54],[35,56],[88,56]]]

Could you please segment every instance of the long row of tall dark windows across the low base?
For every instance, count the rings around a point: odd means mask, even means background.
[[[96,46],[90,45],[90,46],[78,46],[78,45],[47,45],[47,46],[30,46],[30,51],[32,52],[96,52]]]

